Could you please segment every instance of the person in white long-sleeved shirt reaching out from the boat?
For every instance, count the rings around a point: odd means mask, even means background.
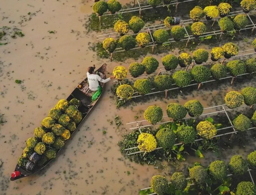
[[[88,67],[87,69],[87,78],[89,83],[89,89],[91,91],[96,91],[92,96],[92,101],[97,100],[97,98],[102,93],[102,88],[99,85],[99,82],[101,83],[107,83],[110,81],[110,79],[114,79],[114,76],[110,76],[107,79],[102,79],[99,75],[95,74],[94,72],[95,65]],[[100,73],[100,72],[99,72]]]

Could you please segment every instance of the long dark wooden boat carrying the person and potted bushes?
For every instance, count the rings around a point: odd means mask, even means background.
[[[101,76],[101,78],[106,79],[106,71],[107,71],[107,65],[103,64],[96,72],[99,73],[99,75]],[[105,83],[99,83],[102,87],[102,89],[104,90],[104,86]],[[103,92],[103,91],[102,91]],[[95,106],[95,104],[97,103],[97,101],[99,100],[99,98],[95,101],[91,101],[91,96],[93,94],[93,91],[91,91],[89,89],[89,84],[88,84],[88,79],[85,78],[77,87],[74,91],[72,91],[72,93],[68,96],[67,100],[70,101],[73,98],[76,98],[78,100],[81,101],[81,106],[78,108],[78,110],[80,112],[82,112],[82,120],[79,124],[77,124],[76,129],[71,132],[71,136],[75,133],[75,131],[80,127],[80,125],[82,124],[83,120],[85,120],[86,116],[88,116],[89,112],[93,109],[93,107]],[[101,93],[102,95],[102,93]],[[60,149],[61,150],[61,149]],[[60,152],[60,150],[58,150],[56,153]],[[42,167],[39,166],[35,166],[35,168],[33,169],[33,171],[28,171],[24,168],[21,168],[18,164],[15,167],[15,171],[19,171],[20,175],[18,177],[11,177],[10,180],[14,181],[17,179],[21,179],[23,177],[27,177],[32,175],[33,173],[38,172],[39,170],[43,169],[46,165],[48,165],[51,161],[48,160]]]

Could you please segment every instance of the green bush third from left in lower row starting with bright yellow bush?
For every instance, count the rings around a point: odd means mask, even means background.
[[[177,128],[178,140],[184,144],[193,143],[196,140],[196,131],[193,127],[181,125]]]

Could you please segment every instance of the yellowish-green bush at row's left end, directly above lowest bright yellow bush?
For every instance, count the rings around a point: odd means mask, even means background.
[[[143,116],[150,124],[156,124],[162,120],[163,110],[159,106],[149,106]]]

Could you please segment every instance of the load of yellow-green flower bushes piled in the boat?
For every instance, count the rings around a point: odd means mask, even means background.
[[[18,165],[25,167],[32,159],[32,154],[39,155],[39,161],[34,162],[39,167],[56,157],[56,153],[64,146],[72,132],[80,124],[82,113],[79,111],[81,102],[75,98],[59,100],[54,108],[41,122],[41,126],[35,128],[34,136],[28,138],[27,146],[19,157]]]

